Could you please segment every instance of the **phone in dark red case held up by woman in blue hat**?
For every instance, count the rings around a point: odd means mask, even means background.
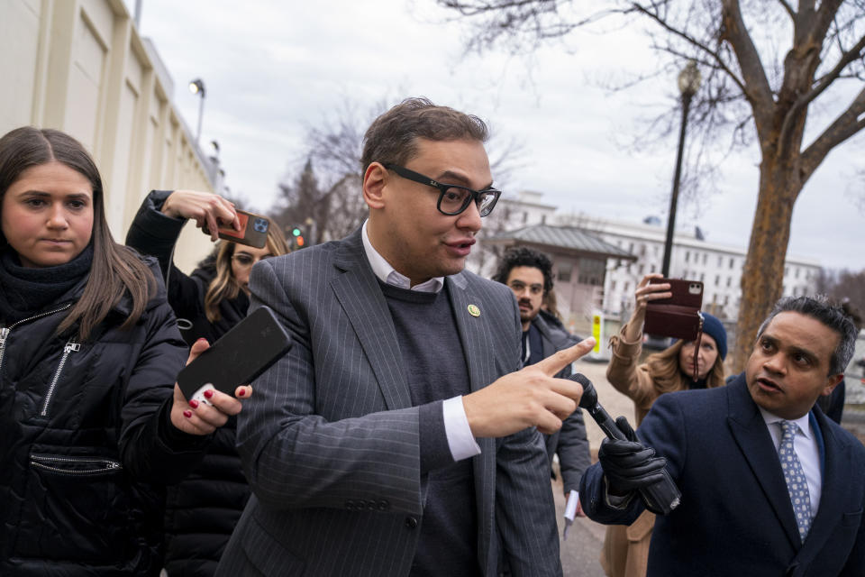
[[[669,283],[670,298],[646,303],[643,333],[672,336],[693,341],[700,331],[700,308],[703,307],[703,283],[699,280],[649,279],[649,284]]]

